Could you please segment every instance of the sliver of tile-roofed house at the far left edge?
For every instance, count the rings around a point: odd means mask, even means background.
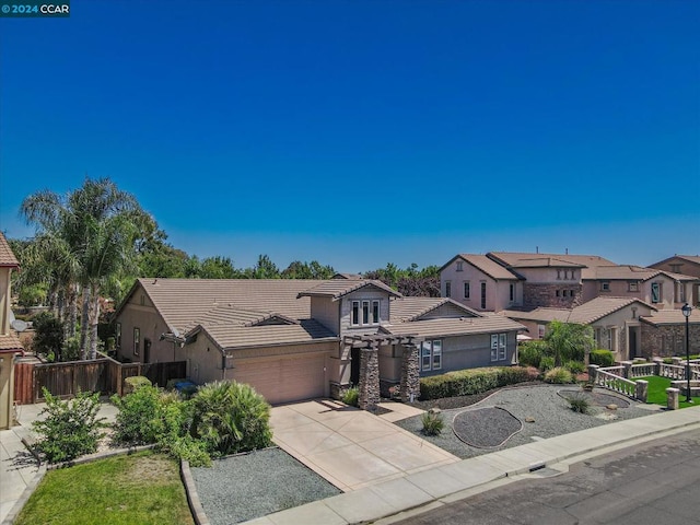
[[[14,360],[22,343],[10,327],[10,275],[20,262],[0,232],[0,430],[12,427],[14,405]]]

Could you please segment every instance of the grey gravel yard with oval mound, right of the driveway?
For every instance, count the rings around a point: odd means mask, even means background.
[[[564,392],[560,394],[560,390]],[[652,413],[649,405],[630,401],[629,399],[622,396],[617,396],[609,390],[600,390],[597,388],[591,393],[591,396],[596,401],[592,412],[590,415],[578,413],[569,408],[569,402],[563,397],[564,394],[571,395],[571,393],[575,390],[575,387],[565,385],[539,385],[503,388],[486,399],[479,400],[470,407],[463,406],[462,408],[443,410],[442,416],[445,422],[445,428],[442,433],[436,436],[423,435],[421,432],[422,422],[420,416],[398,421],[396,424],[413,432],[416,435],[419,435],[457,457],[467,458],[503,448],[510,448],[512,446],[524,445],[532,443],[533,441],[537,441],[538,439],[555,438],[557,435],[598,427],[615,420],[639,418]],[[597,399],[595,399],[596,396]],[[614,402],[618,405],[619,408],[617,410],[608,410],[603,406],[598,406],[598,401],[605,401],[605,405]],[[509,439],[509,434],[512,433],[512,428],[510,425],[502,424],[504,421],[502,413],[479,410],[478,413],[480,413],[481,417],[472,417],[468,420],[471,425],[469,432],[475,436],[474,439],[480,439],[480,442],[483,443],[487,441],[486,436],[488,434],[494,434],[493,438],[488,438],[491,443],[501,443],[503,441],[505,441],[505,443],[493,447],[469,446],[455,435],[453,430],[455,417],[465,411],[472,411],[476,408],[486,407],[495,407],[506,410],[522,422],[523,430]],[[492,418],[490,416],[494,417]],[[462,418],[457,419],[458,430],[460,424],[459,419]],[[460,432],[466,432],[464,425],[462,425]]]

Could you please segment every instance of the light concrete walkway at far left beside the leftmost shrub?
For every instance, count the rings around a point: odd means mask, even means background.
[[[38,464],[26,450],[22,439],[34,439],[32,422],[39,419],[46,404],[18,406],[19,425],[10,430],[0,430],[0,523],[3,523],[10,511],[20,501],[24,490],[37,482],[46,471],[46,466]],[[100,417],[114,421],[117,408],[103,402]]]

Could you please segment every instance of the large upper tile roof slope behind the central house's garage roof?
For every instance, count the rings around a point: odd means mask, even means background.
[[[139,279],[171,329],[185,334],[219,307],[232,308],[248,322],[277,313],[293,319],[311,317],[311,300],[298,295],[318,280],[304,279]],[[347,281],[340,281],[347,282]],[[121,305],[124,307],[124,303]],[[253,312],[253,314],[243,313]],[[229,315],[221,311],[217,315]]]

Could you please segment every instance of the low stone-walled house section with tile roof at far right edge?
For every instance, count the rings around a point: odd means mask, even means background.
[[[670,357],[686,354],[686,317],[679,310],[661,310],[642,316],[642,357]],[[688,317],[690,353],[700,353],[700,308]]]

